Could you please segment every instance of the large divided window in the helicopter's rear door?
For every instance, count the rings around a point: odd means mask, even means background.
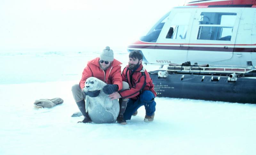
[[[236,13],[202,12],[197,39],[230,41]]]

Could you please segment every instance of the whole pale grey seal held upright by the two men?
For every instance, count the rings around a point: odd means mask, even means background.
[[[110,100],[107,94],[102,91],[105,82],[90,77],[85,81],[84,92],[100,91],[97,97],[85,97],[85,109],[93,123],[115,123],[119,114],[119,102],[117,99]]]

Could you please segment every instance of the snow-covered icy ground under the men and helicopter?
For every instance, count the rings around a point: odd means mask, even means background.
[[[123,68],[128,53],[114,52]],[[1,53],[1,155],[256,153],[254,104],[156,97],[151,123],[143,122],[143,107],[127,125],[76,123],[83,118],[70,117],[78,111],[71,87],[86,62],[98,55]],[[36,99],[54,97],[64,103],[34,109]]]

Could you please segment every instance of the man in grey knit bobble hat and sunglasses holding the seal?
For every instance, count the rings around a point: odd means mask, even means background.
[[[85,81],[89,77],[96,77],[101,81],[107,83],[103,87],[103,91],[106,94],[112,94],[123,87],[122,76],[121,76],[121,65],[122,63],[114,59],[113,51],[107,46],[106,49],[93,60],[87,62],[87,66],[84,68],[82,79],[79,84],[72,87],[73,97],[76,104],[84,116],[82,123],[91,123],[91,119],[88,113],[85,112],[85,96],[96,97],[100,91],[88,91],[84,93]]]

